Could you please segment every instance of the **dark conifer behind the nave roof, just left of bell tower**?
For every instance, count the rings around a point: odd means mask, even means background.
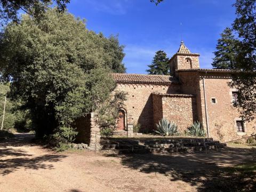
[[[150,75],[168,75],[169,74],[169,58],[164,51],[157,51],[151,65],[148,65],[149,69],[146,71]]]

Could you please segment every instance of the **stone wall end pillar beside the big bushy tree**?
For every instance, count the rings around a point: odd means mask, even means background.
[[[77,119],[75,126],[78,134],[76,137],[77,143],[85,143],[89,150],[100,150],[100,128],[95,123],[94,114],[87,114],[85,117]]]

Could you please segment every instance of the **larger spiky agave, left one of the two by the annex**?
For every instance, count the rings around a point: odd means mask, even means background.
[[[169,136],[175,135],[178,133],[178,126],[173,123],[169,122],[167,119],[162,118],[158,124],[156,124],[157,130],[155,132],[160,135]]]

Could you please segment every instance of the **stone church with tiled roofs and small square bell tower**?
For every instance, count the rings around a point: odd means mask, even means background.
[[[178,125],[180,132],[199,121],[207,136],[230,141],[249,136],[255,122],[244,122],[233,107],[237,90],[228,82],[237,73],[227,69],[201,69],[199,54],[191,53],[183,42],[169,61],[170,75],[113,74],[117,90],[127,92],[119,110],[117,130],[140,124],[153,130],[162,118]]]

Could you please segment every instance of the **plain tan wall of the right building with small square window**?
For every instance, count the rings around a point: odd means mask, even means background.
[[[205,76],[201,74],[201,76]],[[205,77],[206,104],[208,112],[210,137],[221,141],[231,141],[248,137],[256,133],[256,121],[245,122],[245,132],[238,133],[236,120],[242,120],[241,114],[232,104],[232,90],[228,86],[231,74],[207,74]],[[203,92],[203,80],[200,81]],[[212,103],[215,99],[216,103]],[[204,98],[202,97],[202,103]],[[204,106],[202,106],[204,107]],[[202,109],[204,110],[204,108]],[[205,119],[205,117],[203,118]],[[205,123],[204,123],[205,124]]]

